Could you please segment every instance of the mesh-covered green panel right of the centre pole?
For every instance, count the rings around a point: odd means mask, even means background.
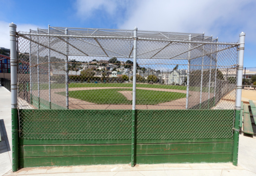
[[[137,110],[136,140],[221,139],[233,136],[234,110]]]

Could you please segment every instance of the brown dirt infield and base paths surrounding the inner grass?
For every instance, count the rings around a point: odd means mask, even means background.
[[[100,89],[131,89],[131,87],[74,87],[69,88],[69,91],[86,91],[86,90],[100,90]],[[141,90],[150,90],[150,91],[163,91],[163,92],[177,92],[184,93],[184,90],[174,90],[174,89],[156,89],[156,88],[147,88],[147,87],[136,87],[136,89]],[[57,93],[65,92],[65,89],[52,89],[51,90],[51,102],[62,107],[66,107],[66,97]],[[122,93],[126,98],[129,98],[129,91]],[[33,91],[32,94],[37,96],[37,91]],[[194,101],[190,102],[190,105],[198,104],[200,100],[200,92],[189,92],[190,99]],[[42,99],[49,99],[49,90],[41,90],[40,97]],[[213,97],[213,93],[210,93],[210,98]],[[128,99],[128,100],[129,100]],[[61,100],[61,101],[60,101]],[[202,93],[202,102],[208,100],[208,92]],[[76,98],[69,97],[69,108],[70,109],[131,109],[132,105],[130,104],[95,104],[92,102],[83,101]],[[136,109],[186,109],[186,98],[181,98],[165,103],[160,103],[156,105],[136,105]]]

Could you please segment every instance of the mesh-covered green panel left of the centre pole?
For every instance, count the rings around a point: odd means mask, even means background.
[[[131,140],[131,113],[131,110],[21,109],[21,138]]]

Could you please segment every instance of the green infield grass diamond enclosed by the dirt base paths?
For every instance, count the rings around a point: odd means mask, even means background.
[[[132,89],[101,89],[86,91],[70,91],[69,97],[81,99],[96,104],[132,104],[131,100],[119,91],[132,91]],[[57,93],[65,96],[65,92]],[[186,94],[176,92],[136,90],[136,104],[154,105],[185,98]]]

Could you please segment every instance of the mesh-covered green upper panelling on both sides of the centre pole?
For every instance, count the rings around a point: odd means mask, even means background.
[[[131,110],[21,109],[21,138],[127,143],[131,114]],[[136,118],[136,143],[232,138],[232,109],[137,110]]]

